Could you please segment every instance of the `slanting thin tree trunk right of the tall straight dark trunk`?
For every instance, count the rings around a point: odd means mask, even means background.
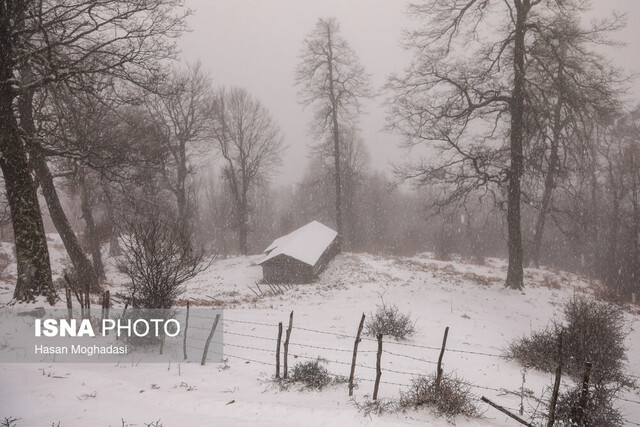
[[[562,104],[563,104],[563,87],[562,87],[562,75],[563,64],[560,63],[558,68],[558,100],[553,112],[553,136],[551,140],[551,153],[549,154],[549,165],[547,169],[547,176],[544,180],[544,191],[542,193],[542,203],[540,205],[540,211],[538,212],[538,219],[536,221],[536,231],[533,238],[533,247],[531,249],[533,265],[536,268],[540,267],[540,246],[542,245],[542,236],[544,234],[544,224],[547,219],[547,212],[551,207],[551,200],[553,196],[553,190],[556,187],[556,175],[558,168],[558,148],[560,146],[560,133],[562,132]]]

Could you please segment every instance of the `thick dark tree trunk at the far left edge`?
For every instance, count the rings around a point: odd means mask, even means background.
[[[12,27],[18,25],[13,3],[0,2],[0,169],[4,175],[7,201],[16,248],[18,280],[14,298],[27,301],[39,295],[55,302],[47,238],[42,223],[36,187],[31,178],[27,154],[20,139],[13,101],[15,92]]]

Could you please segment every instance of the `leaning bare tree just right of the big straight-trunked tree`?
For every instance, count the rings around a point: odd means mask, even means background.
[[[574,153],[588,150],[583,129],[615,110],[620,73],[593,51],[609,43],[608,33],[621,23],[584,28],[576,17],[559,16],[539,26],[529,51],[527,96],[527,167],[542,175],[531,260],[539,266],[540,248],[548,212],[558,181],[575,166]]]

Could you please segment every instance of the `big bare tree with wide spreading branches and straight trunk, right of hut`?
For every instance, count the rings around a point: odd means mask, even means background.
[[[406,45],[414,60],[403,75],[389,80],[391,128],[405,136],[409,148],[427,146],[429,151],[421,161],[398,169],[402,179],[444,184],[441,205],[464,202],[475,192],[504,194],[510,287],[523,286],[524,159],[532,135],[549,130],[548,121],[543,124],[529,111],[535,111],[541,99],[537,111],[553,110],[554,104],[562,103],[557,88],[566,90],[569,85],[562,83],[566,81],[572,82],[574,105],[611,92],[604,85],[611,74],[587,65],[596,56],[586,42],[601,41],[618,23],[606,21],[583,29],[575,17],[584,8],[584,2],[576,0],[412,4],[409,11],[420,27],[407,33]],[[566,56],[568,51],[573,61]],[[582,54],[584,62],[576,61],[576,54]],[[560,121],[565,120],[563,114],[556,116],[555,141],[564,126]],[[553,133],[553,124],[550,128]],[[552,154],[552,175],[556,157]],[[549,194],[542,211],[549,208]],[[539,235],[544,221],[540,225]]]

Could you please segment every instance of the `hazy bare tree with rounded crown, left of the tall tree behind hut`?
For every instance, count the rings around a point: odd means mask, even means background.
[[[212,136],[233,196],[240,252],[247,254],[250,190],[280,163],[283,138],[268,110],[244,89],[221,89],[212,113]]]

